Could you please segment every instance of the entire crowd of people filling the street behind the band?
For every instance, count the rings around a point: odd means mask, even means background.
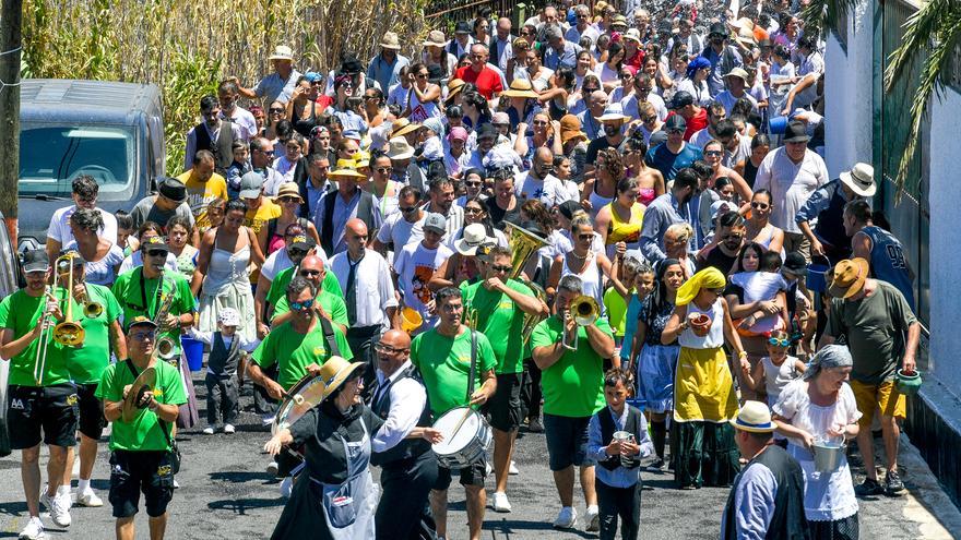
[[[141,493],[163,538],[177,430],[234,434],[246,384],[289,497],[273,538],[449,538],[458,476],[479,539],[527,503],[521,428],[545,433],[558,529],[638,538],[648,468],[731,487],[722,538],[857,538],[857,496],[904,491],[920,326],[871,167],[824,165],[804,3],[485,11],[330,73],[278,45],[254,86],[199,99],[185,171],[129,212],[75,178],[0,303],[20,538],[41,504],[58,527],[104,504],[107,422],[117,538]],[[204,420],[185,340],[209,351]],[[857,485],[812,454],[849,440]]]

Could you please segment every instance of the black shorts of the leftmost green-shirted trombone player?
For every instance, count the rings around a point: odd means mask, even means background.
[[[73,383],[54,386],[11,385],[7,391],[7,423],[10,447],[33,448],[43,442],[52,446],[76,444],[80,398]]]

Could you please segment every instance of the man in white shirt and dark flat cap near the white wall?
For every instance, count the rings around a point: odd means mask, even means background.
[[[771,192],[771,224],[784,230],[784,251],[798,251],[810,262],[810,241],[794,220],[811,193],[828,183],[828,167],[808,149],[804,122],[793,121],[784,132],[784,146],[771,151],[758,167],[755,191]]]

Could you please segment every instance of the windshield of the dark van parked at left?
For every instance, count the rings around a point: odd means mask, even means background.
[[[124,125],[56,125],[25,122],[20,134],[21,196],[70,199],[73,179],[90,175],[102,201],[131,196],[133,131]]]

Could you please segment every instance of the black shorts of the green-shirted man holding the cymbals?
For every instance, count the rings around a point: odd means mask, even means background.
[[[143,493],[146,515],[159,517],[174,499],[174,472],[167,452],[114,451],[110,454],[110,504],[114,517],[137,514]]]

